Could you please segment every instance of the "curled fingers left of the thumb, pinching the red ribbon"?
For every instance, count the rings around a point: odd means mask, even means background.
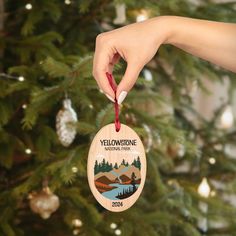
[[[110,87],[106,72],[112,72],[114,63],[119,59],[112,48],[106,43],[105,36],[99,35],[96,39],[96,49],[93,60],[93,76],[98,86],[105,95],[112,101],[115,101],[115,93]]]

